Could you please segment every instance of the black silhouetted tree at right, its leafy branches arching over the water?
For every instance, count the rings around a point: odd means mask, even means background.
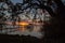
[[[64,33],[64,25],[65,25],[65,5],[63,4],[62,0],[23,0],[23,3],[16,3],[13,4],[11,1],[9,0],[0,0],[0,2],[4,2],[9,5],[9,9],[0,9],[0,11],[8,11],[11,12],[12,15],[12,19],[15,22],[14,17],[18,17],[17,15],[22,14],[24,12],[24,10],[36,6],[35,9],[42,9],[42,10],[47,10],[49,12],[49,14],[51,15],[51,20],[50,20],[50,25],[48,23],[46,23],[44,25],[44,32],[46,32],[46,38],[52,38],[54,39],[55,37],[58,38],[58,35],[61,35],[62,33]],[[56,9],[54,9],[55,11],[53,11],[53,2],[56,5]],[[47,4],[46,4],[47,3]],[[27,5],[26,5],[27,4]],[[26,6],[24,6],[26,5]],[[52,6],[52,8],[51,8]],[[10,11],[11,10],[11,11]],[[0,19],[3,18],[4,15],[1,15],[4,13],[0,13]],[[36,14],[35,16],[36,17]],[[48,42],[46,42],[48,43]]]

